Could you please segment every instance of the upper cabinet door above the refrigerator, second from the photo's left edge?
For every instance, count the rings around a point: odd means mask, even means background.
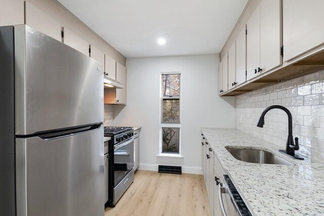
[[[25,4],[26,25],[61,41],[61,24],[30,2]]]

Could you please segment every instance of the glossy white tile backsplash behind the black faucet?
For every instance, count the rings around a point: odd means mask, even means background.
[[[298,153],[324,162],[324,70],[235,97],[235,127],[285,149],[288,117],[284,111],[270,110],[264,127],[256,126],[271,105],[291,111]]]

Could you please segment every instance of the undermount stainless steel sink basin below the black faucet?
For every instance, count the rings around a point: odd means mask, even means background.
[[[234,158],[244,162],[293,165],[287,160],[282,159],[281,157],[278,157],[268,151],[254,149],[226,149]]]

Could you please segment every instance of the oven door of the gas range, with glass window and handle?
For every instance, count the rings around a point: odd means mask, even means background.
[[[134,137],[114,146],[114,187],[123,180],[134,167]]]

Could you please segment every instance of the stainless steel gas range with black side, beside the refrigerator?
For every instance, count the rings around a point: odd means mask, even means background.
[[[134,131],[132,127],[104,127],[107,141],[108,169],[106,204],[114,207],[134,181]],[[106,144],[106,143],[105,143]]]

